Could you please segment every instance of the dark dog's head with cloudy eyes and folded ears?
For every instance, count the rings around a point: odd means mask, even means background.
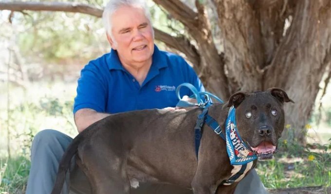
[[[293,102],[286,92],[269,88],[265,92],[237,92],[224,105],[236,108],[236,122],[242,140],[259,160],[271,159],[284,129],[284,102]]]

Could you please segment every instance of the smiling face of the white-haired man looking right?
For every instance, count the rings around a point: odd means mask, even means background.
[[[117,50],[121,62],[137,67],[151,62],[154,52],[153,32],[144,10],[123,6],[110,19],[114,40],[110,37],[108,39],[112,49]]]

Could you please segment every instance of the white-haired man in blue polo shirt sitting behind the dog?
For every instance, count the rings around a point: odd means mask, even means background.
[[[154,45],[154,32],[144,0],[111,0],[105,8],[103,20],[112,49],[81,71],[74,102],[78,132],[111,113],[175,107],[178,102],[175,88],[184,82],[204,90],[194,70],[183,58],[160,51]],[[190,95],[190,92],[183,89],[181,94]],[[58,163],[71,141],[70,137],[55,130],[43,130],[36,135],[31,151],[27,194],[51,192]],[[68,176],[62,193],[67,194],[70,188],[74,193],[88,194],[86,177],[77,169],[74,160],[72,164],[70,178]],[[255,172],[245,180],[239,184],[238,194],[265,193]],[[131,192],[192,193],[176,186],[149,183],[141,184]]]

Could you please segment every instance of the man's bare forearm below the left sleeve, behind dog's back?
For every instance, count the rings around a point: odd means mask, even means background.
[[[80,133],[96,121],[101,120],[109,115],[110,114],[107,113],[98,113],[93,109],[80,109],[74,114],[74,122],[78,132]]]

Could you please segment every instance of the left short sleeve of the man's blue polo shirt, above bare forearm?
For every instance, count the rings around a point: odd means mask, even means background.
[[[90,62],[82,71],[74,99],[74,113],[79,109],[90,108],[99,113],[106,110],[107,81],[102,77],[100,66]]]

